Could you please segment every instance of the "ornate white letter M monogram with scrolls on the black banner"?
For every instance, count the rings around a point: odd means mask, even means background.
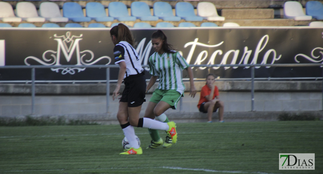
[[[67,62],[71,61],[72,55],[76,52],[77,63],[75,65],[93,65],[100,60],[107,59],[109,65],[111,63],[111,58],[109,56],[102,56],[98,59],[94,59],[94,53],[91,50],[83,50],[80,51],[79,49],[79,41],[82,40],[83,34],[79,36],[71,35],[71,32],[66,32],[66,35],[57,36],[54,34],[55,41],[57,41],[57,50],[47,50],[43,53],[42,60],[36,58],[34,56],[26,57],[25,64],[30,65],[28,60],[36,60],[42,65],[61,65],[61,52],[64,54],[65,59]],[[68,46],[69,45],[69,46]],[[48,55],[49,54],[49,55]],[[89,54],[90,58],[86,59],[85,56]],[[48,57],[47,57],[48,56]],[[50,57],[49,57],[50,56]],[[56,71],[57,73],[60,72],[61,74],[75,74],[77,72],[84,71],[86,68],[51,68],[52,71]]]

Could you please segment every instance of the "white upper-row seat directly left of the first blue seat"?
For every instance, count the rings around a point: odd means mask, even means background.
[[[59,7],[53,2],[43,2],[39,5],[39,14],[50,22],[68,22],[67,17],[63,17]]]

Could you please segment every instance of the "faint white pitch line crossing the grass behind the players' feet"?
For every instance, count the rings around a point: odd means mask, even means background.
[[[224,131],[216,133],[292,133],[292,132],[313,132],[313,131]],[[323,131],[316,131],[323,132]],[[214,133],[214,132],[180,132],[180,134],[195,134],[195,133]],[[136,133],[148,134],[148,133]],[[17,136],[0,136],[0,138],[27,138],[27,137],[73,137],[73,136],[101,136],[101,135],[123,135],[123,133],[101,133],[101,134],[80,134],[80,135],[17,135]]]

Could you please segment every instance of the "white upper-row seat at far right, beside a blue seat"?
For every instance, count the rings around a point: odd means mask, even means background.
[[[297,1],[287,1],[284,4],[284,18],[295,21],[309,21],[312,16],[304,14],[303,6]]]

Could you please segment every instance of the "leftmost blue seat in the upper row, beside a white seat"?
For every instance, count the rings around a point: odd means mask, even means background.
[[[63,4],[63,16],[74,22],[90,22],[90,17],[85,17],[81,5],[76,2]]]

